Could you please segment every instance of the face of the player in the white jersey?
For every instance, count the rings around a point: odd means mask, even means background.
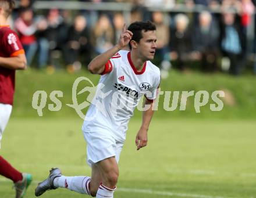
[[[138,43],[138,50],[141,58],[145,60],[152,60],[155,56],[155,49],[157,48],[157,36],[155,31],[142,31],[143,37]]]

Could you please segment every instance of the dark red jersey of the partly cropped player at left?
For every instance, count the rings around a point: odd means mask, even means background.
[[[0,26],[0,56],[13,57],[24,54],[24,49],[15,31],[9,26]],[[13,105],[15,70],[0,65],[0,103]]]

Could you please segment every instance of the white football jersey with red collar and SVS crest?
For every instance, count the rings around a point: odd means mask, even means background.
[[[130,52],[119,51],[105,64],[83,131],[111,131],[116,140],[125,141],[127,125],[141,96],[148,100],[157,98],[159,83],[157,66],[147,61],[137,71]]]

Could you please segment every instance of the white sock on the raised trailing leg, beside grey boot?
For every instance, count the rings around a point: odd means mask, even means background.
[[[66,177],[62,175],[54,179],[54,187],[67,188],[81,194],[91,195],[89,189],[90,181],[91,178],[86,176]]]

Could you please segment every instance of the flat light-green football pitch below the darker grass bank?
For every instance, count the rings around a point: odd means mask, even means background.
[[[136,118],[137,119],[137,118]],[[255,121],[160,120],[150,127],[148,146],[136,150],[140,121],[131,120],[120,157],[115,197],[256,197]],[[33,174],[26,197],[52,167],[63,174],[90,175],[82,120],[11,118],[1,155]],[[14,197],[12,182],[0,177],[0,197]],[[87,197],[57,189],[41,197]]]

